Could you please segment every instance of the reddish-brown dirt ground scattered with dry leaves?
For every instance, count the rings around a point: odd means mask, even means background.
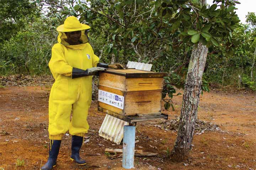
[[[49,87],[0,88],[0,170],[39,170],[48,158]],[[181,92],[181,91],[180,91]],[[164,111],[169,119],[180,115],[182,95],[174,98],[176,111]],[[64,136],[54,170],[121,170],[122,158],[110,159],[105,148],[122,148],[98,135],[105,114],[97,102],[89,111],[90,137],[81,148],[88,162],[79,166],[70,161],[71,136]],[[159,153],[155,157],[135,157],[140,170],[256,170],[256,94],[246,91],[204,93],[198,118],[217,124],[221,130],[194,135],[190,157],[185,162],[168,158],[177,132],[161,129],[160,122],[138,123],[135,149]],[[9,135],[4,135],[5,130]],[[18,160],[17,160],[18,159]],[[22,160],[24,161],[22,163]]]

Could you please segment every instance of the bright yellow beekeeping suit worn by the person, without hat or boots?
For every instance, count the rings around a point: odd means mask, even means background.
[[[71,135],[83,136],[89,129],[87,115],[91,104],[92,76],[71,78],[73,67],[86,70],[96,67],[99,62],[86,33],[87,30],[82,30],[82,44],[69,45],[65,41],[66,35],[59,32],[59,43],[52,47],[49,68],[55,82],[49,97],[48,131],[51,140],[62,140],[68,130]]]

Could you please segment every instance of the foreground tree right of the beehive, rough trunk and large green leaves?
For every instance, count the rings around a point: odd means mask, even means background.
[[[206,0],[176,0],[169,3],[162,1],[162,7],[164,7],[162,16],[165,15],[164,11],[167,10],[168,6],[178,9],[171,20],[172,31],[174,33],[180,32],[181,44],[190,42],[190,40],[195,44],[188,66],[179,130],[172,150],[172,159],[174,160],[186,158],[191,148],[208,47],[211,45],[219,46],[217,39],[220,38],[225,43],[223,45],[229,49],[227,53],[234,51],[230,37],[232,37],[232,32],[239,22],[238,16],[234,12],[234,5],[239,2],[229,0],[214,0],[214,2],[215,4],[208,9]],[[218,5],[220,6],[219,9],[217,9]]]

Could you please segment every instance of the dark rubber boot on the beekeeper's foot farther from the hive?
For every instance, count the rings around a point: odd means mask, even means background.
[[[49,158],[40,170],[52,170],[56,166],[61,140],[50,140]]]

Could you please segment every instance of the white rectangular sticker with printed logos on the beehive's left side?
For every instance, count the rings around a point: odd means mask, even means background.
[[[110,93],[108,91],[98,90],[98,101],[123,109],[124,96]]]

